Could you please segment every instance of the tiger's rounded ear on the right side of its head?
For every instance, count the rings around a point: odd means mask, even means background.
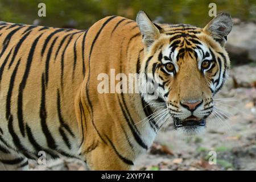
[[[227,35],[232,30],[232,27],[233,22],[231,16],[228,13],[220,13],[210,20],[203,31],[210,34],[221,46],[225,46]]]

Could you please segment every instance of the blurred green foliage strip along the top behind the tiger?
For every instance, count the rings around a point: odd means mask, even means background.
[[[46,3],[46,17],[38,16],[38,4]],[[85,29],[108,15],[135,19],[144,10],[160,23],[188,23],[203,27],[211,19],[209,3],[241,20],[256,19],[255,0],[0,0],[0,20],[43,26]]]

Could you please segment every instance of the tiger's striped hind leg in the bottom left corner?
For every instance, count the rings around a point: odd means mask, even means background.
[[[24,156],[11,154],[11,152],[0,146],[0,170],[16,171],[28,170],[28,159]]]

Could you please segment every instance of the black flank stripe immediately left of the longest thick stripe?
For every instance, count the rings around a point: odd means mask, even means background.
[[[6,97],[6,119],[7,120],[9,119],[10,114],[11,114],[11,96],[13,93],[14,82],[15,82],[16,73],[17,73],[17,70],[19,67],[19,63],[20,63],[20,59],[19,59],[18,63],[16,64],[13,73],[11,74],[9,89],[7,92],[7,97]]]

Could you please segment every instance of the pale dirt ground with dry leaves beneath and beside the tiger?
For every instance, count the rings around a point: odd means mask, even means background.
[[[135,170],[256,170],[256,67],[232,68],[216,96],[222,113],[207,120],[203,134],[184,137],[168,126],[154,145],[135,162]],[[251,84],[251,83],[253,83]],[[220,100],[222,98],[222,100]],[[210,165],[210,151],[217,164]],[[30,162],[32,170],[84,170],[80,161],[60,159],[45,166]]]

